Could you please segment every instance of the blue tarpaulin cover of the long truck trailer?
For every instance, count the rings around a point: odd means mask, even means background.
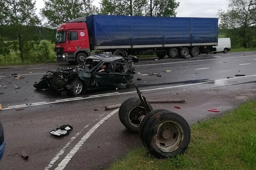
[[[91,15],[95,46],[217,43],[218,18]]]

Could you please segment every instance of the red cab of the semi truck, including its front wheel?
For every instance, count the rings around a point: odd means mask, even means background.
[[[81,21],[82,18],[79,18]],[[81,63],[89,56],[90,46],[85,22],[74,19],[57,28],[55,52],[57,61]],[[81,61],[79,61],[81,60]]]

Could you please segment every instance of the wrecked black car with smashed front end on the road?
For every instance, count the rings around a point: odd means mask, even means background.
[[[61,67],[56,71],[48,71],[34,87],[51,88],[57,92],[69,90],[74,96],[95,88],[126,87],[133,81],[136,62],[139,62],[136,56],[89,56],[75,67]]]

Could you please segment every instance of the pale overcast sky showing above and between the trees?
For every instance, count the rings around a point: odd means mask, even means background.
[[[94,0],[93,5],[99,6],[101,0]],[[180,2],[176,9],[178,17],[217,17],[218,10],[226,10],[228,7],[227,0],[176,0]],[[36,0],[37,14],[40,8],[44,6],[43,0]]]

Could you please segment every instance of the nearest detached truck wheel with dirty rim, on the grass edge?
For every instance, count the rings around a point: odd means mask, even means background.
[[[158,130],[161,130],[161,133]],[[183,117],[171,111],[161,111],[147,121],[142,139],[152,155],[166,158],[183,154],[189,145],[190,135],[190,127]]]

